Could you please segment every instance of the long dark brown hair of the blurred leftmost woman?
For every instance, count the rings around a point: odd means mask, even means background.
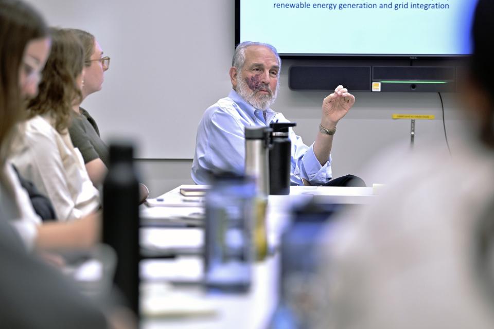
[[[48,35],[43,17],[31,6],[0,0],[0,168],[9,155],[13,128],[25,116],[19,71],[26,45]]]

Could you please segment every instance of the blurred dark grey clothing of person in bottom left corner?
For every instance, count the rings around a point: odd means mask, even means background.
[[[60,271],[27,253],[19,236],[2,214],[0,260],[2,327],[107,327],[107,320],[97,305],[82,296],[62,277]]]

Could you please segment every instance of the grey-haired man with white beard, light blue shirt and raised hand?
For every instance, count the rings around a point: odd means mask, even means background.
[[[237,46],[230,68],[233,90],[206,109],[198,126],[191,170],[196,184],[208,184],[210,172],[244,172],[246,126],[289,122],[270,108],[278,93],[280,69],[281,59],[273,46],[257,42]],[[351,181],[362,181],[351,175],[329,181],[333,134],[354,103],[355,97],[341,85],[327,96],[319,133],[310,147],[290,129],[291,185],[347,186],[352,185]]]

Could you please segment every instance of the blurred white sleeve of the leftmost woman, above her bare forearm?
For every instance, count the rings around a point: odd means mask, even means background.
[[[34,212],[26,190],[21,186],[11,163],[2,169],[0,181],[0,207],[9,223],[19,232],[27,249],[32,249],[38,234],[41,218]]]

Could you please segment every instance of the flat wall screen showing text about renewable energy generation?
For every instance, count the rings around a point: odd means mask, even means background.
[[[236,1],[236,43],[266,42],[285,57],[471,53],[474,0]]]

